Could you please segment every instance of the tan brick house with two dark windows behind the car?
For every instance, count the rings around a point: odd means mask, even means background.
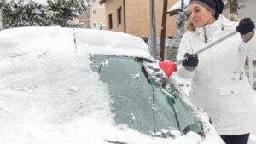
[[[168,0],[168,8],[177,0]],[[149,0],[101,0],[105,4],[106,29],[125,32],[137,37],[150,36]],[[155,1],[156,36],[160,37],[163,0]],[[176,35],[175,17],[167,16],[166,37]]]

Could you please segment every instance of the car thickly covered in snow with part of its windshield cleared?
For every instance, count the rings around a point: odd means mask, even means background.
[[[142,39],[23,27],[0,32],[4,144],[221,144]]]

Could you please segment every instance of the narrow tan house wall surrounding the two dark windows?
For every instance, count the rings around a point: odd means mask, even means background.
[[[141,0],[136,0],[141,1]],[[115,32],[125,32],[124,26],[124,1],[123,0],[107,0],[105,3],[105,19],[106,19],[106,29]],[[118,24],[118,14],[117,9],[121,7],[121,24]],[[112,24],[113,28],[109,29],[109,14],[112,14]]]

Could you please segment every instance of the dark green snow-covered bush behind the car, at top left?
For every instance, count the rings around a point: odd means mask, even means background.
[[[90,5],[85,0],[3,0],[3,27],[18,26],[70,26],[73,20]]]

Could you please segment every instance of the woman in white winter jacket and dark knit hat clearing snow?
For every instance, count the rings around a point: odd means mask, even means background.
[[[256,59],[256,36],[250,19],[240,23],[221,15],[221,0],[190,0],[190,25],[183,35],[177,60],[177,73],[192,78],[191,101],[204,109],[227,144],[247,144],[256,130],[256,97],[245,76],[246,55]],[[207,43],[230,31],[239,33],[212,46],[200,55],[192,55]],[[191,54],[191,55],[190,55]]]

